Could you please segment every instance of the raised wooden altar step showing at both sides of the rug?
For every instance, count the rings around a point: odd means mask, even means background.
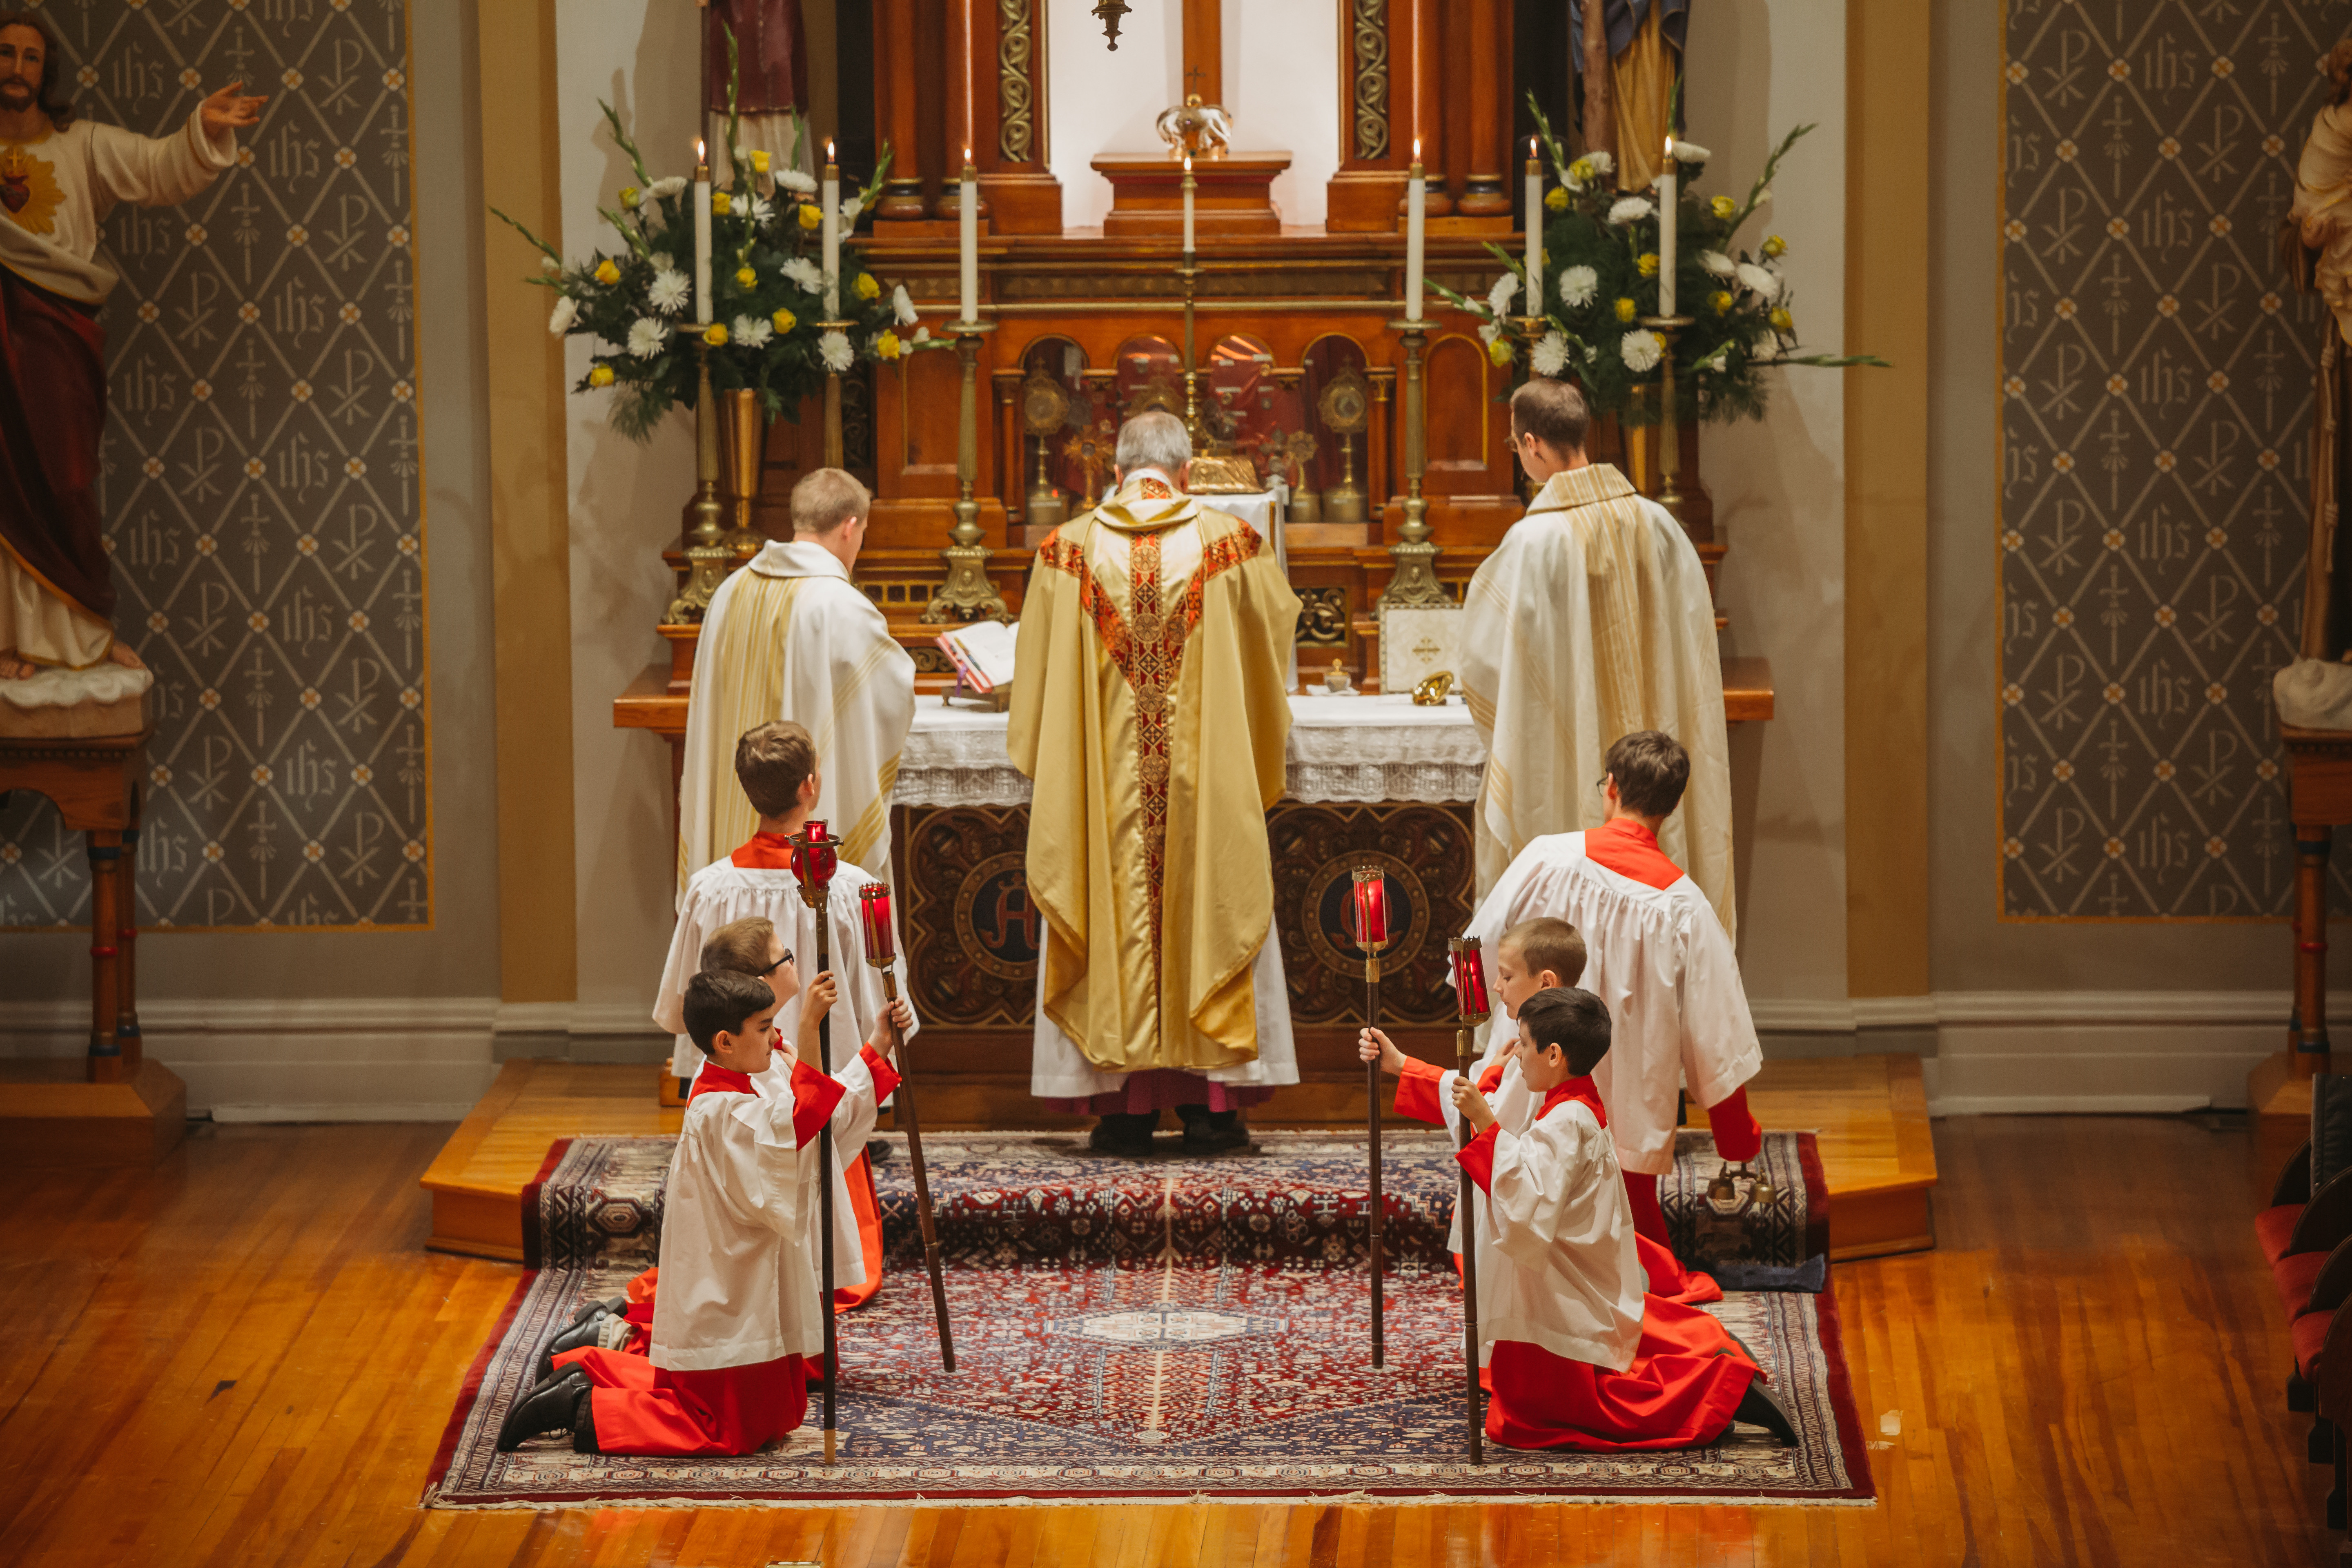
[[[473,1258],[522,1258],[520,1194],[557,1138],[675,1133],[675,1110],[654,1100],[656,1067],[576,1063],[508,1063],[473,1114],[423,1175],[433,1194],[430,1246]],[[1329,1098],[1327,1086],[1303,1086]],[[1348,1091],[1343,1112],[1362,1114],[1362,1088]],[[1345,1095],[1343,1095],[1345,1098]],[[1926,1093],[1915,1056],[1844,1056],[1764,1063],[1748,1084],[1748,1103],[1766,1128],[1811,1131],[1820,1138],[1830,1182],[1830,1253],[1879,1258],[1936,1244],[1929,1194],[1936,1187],[1936,1145],[1929,1138]],[[1270,1110],[1279,1110],[1279,1100]],[[1310,1100],[1303,1110],[1319,1110]],[[1258,1126],[1284,1117],[1251,1112]],[[1084,1126],[1084,1119],[1056,1117]],[[1322,1121],[1315,1117],[1315,1121]],[[924,1126],[955,1121],[924,1114]]]

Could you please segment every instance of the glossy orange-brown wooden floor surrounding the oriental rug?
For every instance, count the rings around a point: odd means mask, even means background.
[[[421,1512],[520,1269],[423,1248],[449,1126],[209,1126],[0,1220],[0,1563],[2333,1563],[2253,1135],[1933,1124],[1931,1253],[1839,1265],[1877,1507]]]

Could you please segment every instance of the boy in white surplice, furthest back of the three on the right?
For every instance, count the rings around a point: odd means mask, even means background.
[[[1618,1048],[1595,1072],[1632,1199],[1635,1227],[1668,1248],[1658,1178],[1675,1168],[1679,1091],[1708,1107],[1715,1147],[1748,1161],[1764,1131],[1748,1079],[1764,1065],[1731,933],[1658,849],[1691,776],[1689,755],[1653,729],[1621,736],[1604,759],[1609,820],[1529,844],[1494,884],[1470,936],[1494,938],[1536,914],[1573,924],[1588,947],[1585,990],[1609,1004]],[[1679,1265],[1677,1265],[1679,1267]],[[1705,1274],[1658,1279],[1661,1295],[1712,1300]]]

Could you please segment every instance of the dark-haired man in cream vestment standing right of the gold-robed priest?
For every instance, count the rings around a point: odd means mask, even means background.
[[[1543,489],[1463,595],[1456,670],[1489,748],[1477,889],[1538,837],[1599,827],[1602,748],[1663,729],[1691,752],[1691,799],[1665,827],[1665,853],[1733,931],[1731,750],[1708,574],[1665,508],[1585,458],[1585,425],[1583,393],[1566,381],[1536,376],[1512,393],[1519,465]]]

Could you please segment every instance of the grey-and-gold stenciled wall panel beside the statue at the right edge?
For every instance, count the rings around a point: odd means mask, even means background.
[[[2345,31],[2345,0],[2009,0],[2006,919],[2288,910],[2270,677],[2326,324],[2272,233]]]

